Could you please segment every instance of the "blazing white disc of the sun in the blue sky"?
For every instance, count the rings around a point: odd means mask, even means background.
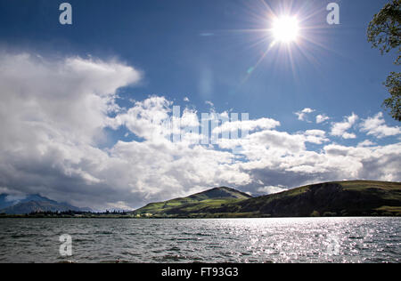
[[[272,28],[274,41],[291,43],[297,40],[299,35],[299,23],[297,18],[283,16],[274,20]]]

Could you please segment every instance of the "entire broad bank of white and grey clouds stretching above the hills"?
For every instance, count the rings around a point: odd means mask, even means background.
[[[129,210],[223,185],[268,193],[318,181],[401,180],[399,143],[340,146],[327,132],[284,132],[270,118],[221,124],[227,132],[248,129],[242,139],[187,141],[198,135],[185,131],[200,124],[194,109],[184,108],[175,128],[169,124],[178,121],[175,105],[165,97],[119,108],[117,90],[140,79],[140,71],[115,60],[1,54],[0,191]],[[331,132],[343,136],[356,119],[347,117]],[[137,138],[100,149],[106,128]],[[180,141],[175,129],[184,131]],[[229,150],[238,147],[241,155]]]

